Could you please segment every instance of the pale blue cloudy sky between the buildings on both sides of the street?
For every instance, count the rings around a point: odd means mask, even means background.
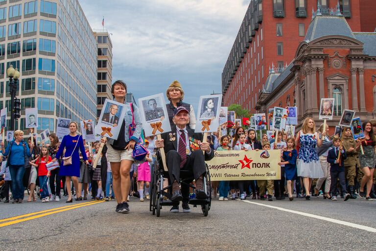
[[[221,74],[249,0],[79,0],[92,28],[111,33],[113,82],[139,98],[173,80],[195,111],[199,97],[221,93]],[[111,3],[111,4],[109,4]],[[167,98],[165,98],[166,101]],[[197,111],[196,111],[197,112]]]

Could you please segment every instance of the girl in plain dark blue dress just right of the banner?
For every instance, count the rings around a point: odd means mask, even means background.
[[[287,149],[282,153],[282,162],[278,163],[278,165],[284,165],[284,174],[287,180],[287,191],[290,201],[294,200],[294,198],[292,197],[292,192],[294,191],[294,181],[297,177],[297,157],[298,152],[295,150],[295,139],[294,137],[289,137],[287,139]]]

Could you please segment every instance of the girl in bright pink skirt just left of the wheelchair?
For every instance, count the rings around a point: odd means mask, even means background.
[[[145,140],[145,148],[148,148],[149,142]],[[141,163],[137,169],[137,181],[139,182],[139,193],[140,193],[140,201],[143,201],[143,185],[145,184],[145,197],[146,200],[150,200],[149,197],[149,185],[150,185],[150,165],[153,161],[151,155],[152,153],[148,149],[148,154],[146,155],[145,162]]]

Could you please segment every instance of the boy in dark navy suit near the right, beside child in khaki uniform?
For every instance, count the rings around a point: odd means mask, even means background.
[[[337,200],[337,178],[343,193],[345,194],[345,201],[350,199],[350,194],[347,193],[344,159],[346,159],[346,151],[340,146],[341,139],[339,137],[333,138],[333,148],[329,150],[327,161],[330,163],[330,177],[331,177],[331,200]],[[338,159],[338,154],[341,156]]]

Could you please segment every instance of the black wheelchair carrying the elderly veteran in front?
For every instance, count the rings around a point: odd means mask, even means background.
[[[179,202],[171,201],[172,184],[168,183],[168,186],[164,187],[163,180],[167,178],[169,180],[169,174],[164,171],[162,164],[161,153],[157,151],[156,161],[151,168],[151,193],[150,193],[150,206],[149,210],[153,215],[157,214],[157,217],[161,215],[161,209],[163,206],[178,205]],[[195,189],[195,186],[190,184],[194,180],[193,173],[187,170],[180,171],[180,183],[187,185],[190,188]],[[208,165],[206,165],[206,175],[203,177],[203,189],[207,194],[206,200],[189,199],[188,204],[193,207],[201,206],[201,210],[205,217],[208,216],[211,207],[211,181]]]

